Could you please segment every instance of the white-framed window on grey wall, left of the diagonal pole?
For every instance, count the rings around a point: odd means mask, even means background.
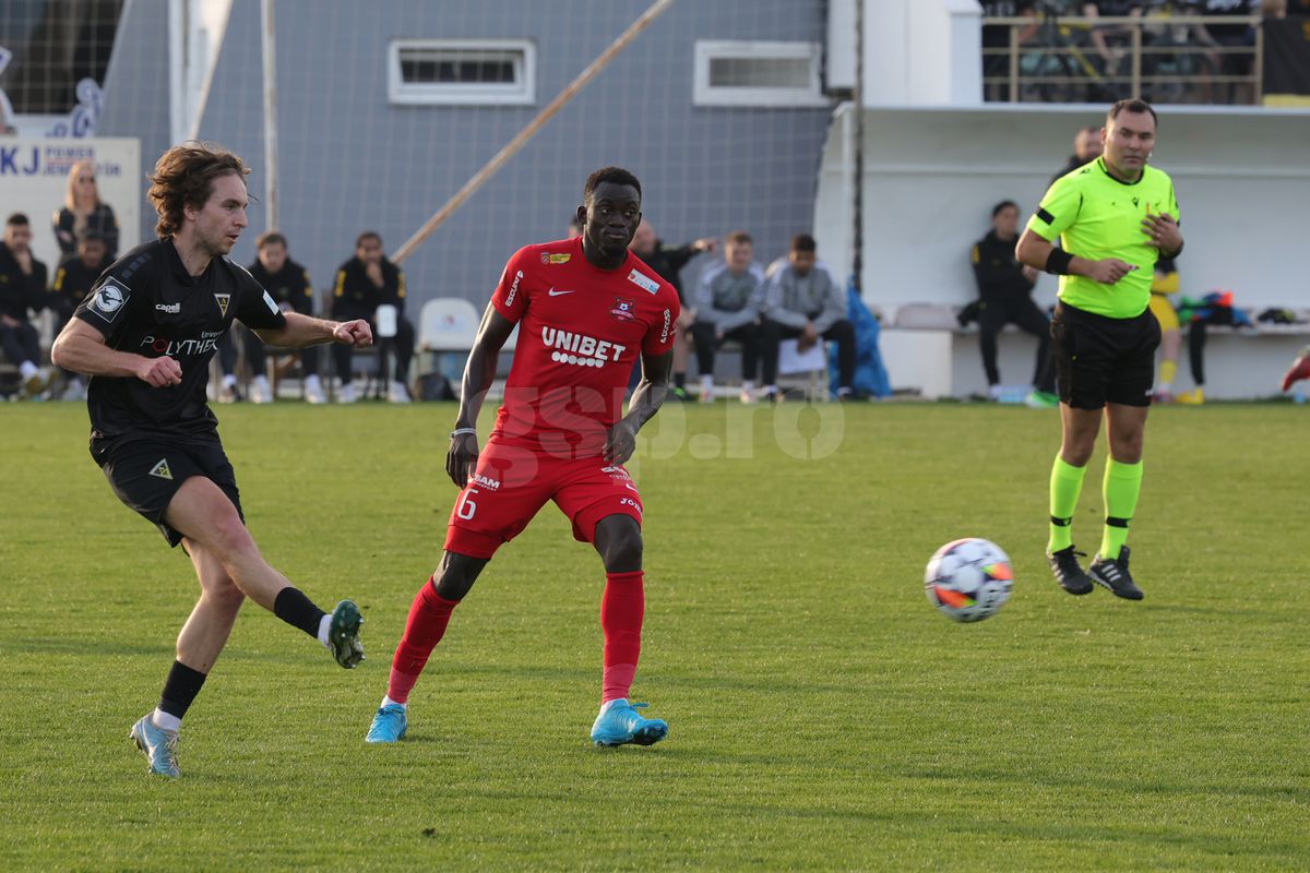
[[[405,105],[536,101],[536,50],[527,39],[393,39],[386,93]]]

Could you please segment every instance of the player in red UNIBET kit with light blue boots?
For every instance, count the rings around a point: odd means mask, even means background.
[[[405,636],[368,742],[396,742],[407,703],[451,613],[502,543],[554,500],[574,537],[605,565],[600,606],[604,674],[591,738],[648,746],[668,724],[627,700],[641,652],[642,499],[624,469],[637,431],[668,393],[677,292],[627,250],[642,219],[642,186],[616,166],[596,170],[578,207],[580,237],[520,249],[506,264],[464,370],[445,470],[462,491],[445,551],[410,606]],[[476,424],[496,356],[519,326],[504,404],[483,452]],[[633,364],[642,381],[622,412]]]

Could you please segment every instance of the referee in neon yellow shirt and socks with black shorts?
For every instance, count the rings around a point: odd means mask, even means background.
[[[1183,250],[1174,182],[1148,166],[1155,120],[1155,110],[1140,99],[1111,106],[1102,156],[1051,185],[1015,249],[1023,263],[1060,276],[1051,339],[1062,437],[1051,471],[1047,558],[1070,594],[1087,594],[1095,582],[1117,597],[1142,598],[1128,573],[1125,542],[1141,492],[1159,346],[1150,287],[1155,260]],[[1100,552],[1083,572],[1072,524],[1102,410],[1110,438],[1106,526]]]

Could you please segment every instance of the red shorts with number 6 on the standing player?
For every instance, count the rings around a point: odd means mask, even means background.
[[[477,471],[451,510],[445,550],[491,558],[532,521],[548,500],[572,521],[574,538],[590,543],[605,516],[642,521],[642,496],[622,466],[600,458],[558,458],[489,440]]]

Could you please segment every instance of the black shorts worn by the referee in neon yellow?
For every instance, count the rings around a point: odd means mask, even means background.
[[[1150,309],[1107,318],[1061,301],[1051,319],[1060,401],[1076,410],[1150,406],[1158,347],[1159,322]]]

